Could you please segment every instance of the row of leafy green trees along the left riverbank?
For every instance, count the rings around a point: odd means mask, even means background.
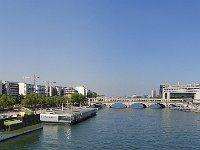
[[[64,96],[45,96],[29,94],[25,98],[23,95],[17,97],[0,96],[0,109],[13,107],[15,104],[22,104],[25,107],[60,107],[62,104],[84,105],[87,98],[95,98],[97,94],[89,91],[87,97],[80,93],[73,93],[70,98]]]

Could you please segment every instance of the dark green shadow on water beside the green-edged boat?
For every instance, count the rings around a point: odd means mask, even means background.
[[[29,145],[40,141],[42,130],[37,130],[9,140],[0,142],[1,150],[22,150],[28,149]]]

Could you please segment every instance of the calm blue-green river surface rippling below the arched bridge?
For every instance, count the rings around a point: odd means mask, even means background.
[[[0,143],[0,150],[200,149],[200,113],[165,109],[102,109],[73,126],[44,129]]]

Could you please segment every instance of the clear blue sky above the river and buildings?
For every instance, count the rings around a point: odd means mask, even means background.
[[[199,0],[0,0],[0,79],[107,96],[200,83]]]

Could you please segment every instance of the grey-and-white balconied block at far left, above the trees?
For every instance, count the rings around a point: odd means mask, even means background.
[[[19,84],[18,82],[3,81],[2,82],[2,94],[10,96],[19,95]]]

